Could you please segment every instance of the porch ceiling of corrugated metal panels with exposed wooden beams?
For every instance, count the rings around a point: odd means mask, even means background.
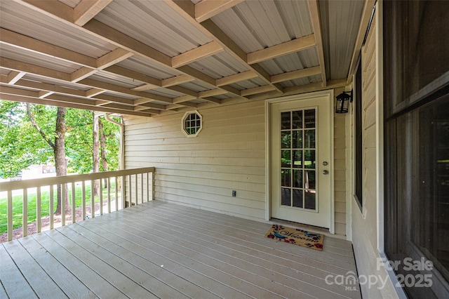
[[[0,98],[152,117],[344,86],[374,2],[2,0]]]

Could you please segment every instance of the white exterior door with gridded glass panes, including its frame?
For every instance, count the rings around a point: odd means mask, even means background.
[[[330,95],[270,104],[272,218],[330,227]]]

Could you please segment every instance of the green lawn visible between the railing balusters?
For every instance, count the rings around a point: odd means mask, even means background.
[[[75,186],[75,206],[81,207],[81,185]],[[107,199],[107,189],[103,189],[103,201]],[[53,211],[56,211],[57,199],[56,188],[54,189],[53,199]],[[33,191],[28,192],[28,223],[36,221],[36,188]],[[111,182],[111,198],[115,199],[115,182]],[[72,203],[72,187],[69,185],[69,201]],[[95,197],[95,203],[100,202],[100,197]],[[86,184],[86,206],[91,205],[91,185]],[[13,229],[22,227],[22,215],[23,215],[23,199],[22,194],[13,196]],[[6,192],[0,194],[0,234],[7,232],[8,221],[8,199],[6,198]],[[41,190],[41,217],[45,217],[50,213],[50,187],[43,187]]]

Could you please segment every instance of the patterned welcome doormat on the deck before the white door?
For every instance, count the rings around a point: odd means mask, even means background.
[[[307,232],[293,227],[285,227],[282,225],[272,225],[265,237],[275,239],[290,244],[304,246],[319,251],[323,250],[323,234]]]

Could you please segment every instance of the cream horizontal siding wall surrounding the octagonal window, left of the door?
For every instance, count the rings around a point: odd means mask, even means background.
[[[181,131],[183,113],[126,118],[126,168],[156,167],[161,201],[264,220],[264,102],[199,113],[203,128],[194,138]]]

